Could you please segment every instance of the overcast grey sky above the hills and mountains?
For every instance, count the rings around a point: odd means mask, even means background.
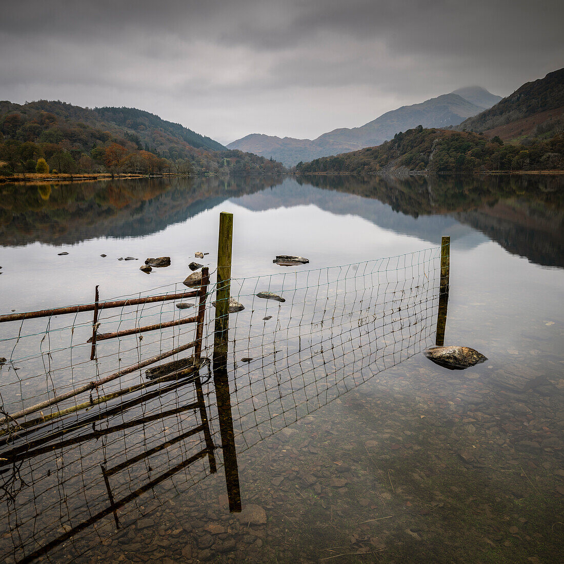
[[[0,99],[128,106],[219,142],[315,138],[564,66],[562,0],[5,0]]]

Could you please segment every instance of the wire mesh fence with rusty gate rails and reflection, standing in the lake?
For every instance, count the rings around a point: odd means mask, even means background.
[[[147,513],[145,493],[158,504],[218,464],[236,508],[235,447],[244,452],[433,341],[442,248],[231,278],[239,311],[223,319],[215,382],[217,319],[206,299],[215,284],[186,309],[176,307],[186,296],[175,284],[122,297],[117,310],[98,307],[95,320],[86,310],[0,325],[0,555],[76,557],[91,535]],[[146,299],[154,296],[170,299]],[[190,316],[195,332],[171,323]],[[93,325],[114,335],[90,360]],[[196,355],[182,355],[192,347]]]

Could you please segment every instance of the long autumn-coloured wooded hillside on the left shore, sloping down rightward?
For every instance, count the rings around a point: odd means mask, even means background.
[[[276,174],[283,165],[229,150],[135,108],[0,102],[0,175],[14,173]]]

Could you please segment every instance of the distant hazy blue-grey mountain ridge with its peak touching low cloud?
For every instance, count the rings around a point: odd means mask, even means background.
[[[461,92],[461,94],[457,93]],[[462,94],[469,96],[465,98]],[[474,102],[471,100],[474,100]],[[320,135],[318,138],[294,139],[253,133],[228,144],[230,149],[240,149],[273,157],[287,166],[299,161],[310,161],[328,155],[338,155],[364,147],[372,147],[393,138],[399,131],[422,125],[447,127],[482,112],[500,100],[480,87],[469,87],[425,100],[420,104],[402,106],[386,112],[368,124],[349,129],[343,127]],[[479,103],[478,103],[479,102]]]

